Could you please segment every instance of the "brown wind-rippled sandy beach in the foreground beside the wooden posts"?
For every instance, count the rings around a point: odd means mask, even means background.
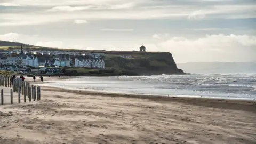
[[[42,87],[0,106],[0,143],[256,143],[256,102]]]

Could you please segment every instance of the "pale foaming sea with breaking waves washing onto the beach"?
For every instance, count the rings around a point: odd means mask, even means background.
[[[234,63],[232,63],[234,65]],[[179,65],[178,65],[179,66]],[[190,66],[190,65],[189,65]],[[252,65],[253,67],[256,66]],[[71,90],[85,90],[105,93],[134,95],[162,95],[165,97],[199,97],[219,99],[256,99],[256,67],[252,71],[205,68],[198,65],[193,69],[181,66],[190,75],[153,76],[112,76],[112,77],[72,77],[48,81],[43,86]],[[236,68],[236,67],[235,67]],[[209,69],[209,70],[207,70]],[[225,67],[225,69],[228,69]],[[229,69],[230,70],[230,69]],[[204,73],[200,73],[204,71]],[[210,73],[207,73],[210,71]],[[213,73],[214,72],[214,73]],[[228,71],[230,72],[230,71]],[[253,73],[255,72],[255,73]]]

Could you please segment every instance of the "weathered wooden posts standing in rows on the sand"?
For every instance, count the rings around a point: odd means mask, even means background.
[[[20,103],[20,97],[23,95],[24,102],[28,97],[29,101],[33,99],[34,101],[39,101],[41,99],[41,89],[40,86],[31,85],[29,82],[22,81],[22,78],[14,78],[11,82],[9,77],[0,78],[0,86],[10,87],[11,93],[11,104],[13,104],[13,92],[18,93],[18,102]],[[1,105],[4,105],[4,90],[1,90]]]

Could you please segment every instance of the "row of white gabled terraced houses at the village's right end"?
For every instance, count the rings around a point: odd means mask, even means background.
[[[104,60],[75,59],[75,67],[105,68]]]

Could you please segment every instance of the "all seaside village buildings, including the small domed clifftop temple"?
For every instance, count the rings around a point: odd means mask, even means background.
[[[141,46],[140,51],[146,47]],[[91,69],[105,69],[105,54],[90,52],[66,52],[66,51],[31,51],[9,47],[8,51],[0,52],[0,70],[18,71],[21,73],[36,70],[51,70],[58,73],[61,67],[84,67]],[[132,58],[129,55],[119,55],[122,58]]]

